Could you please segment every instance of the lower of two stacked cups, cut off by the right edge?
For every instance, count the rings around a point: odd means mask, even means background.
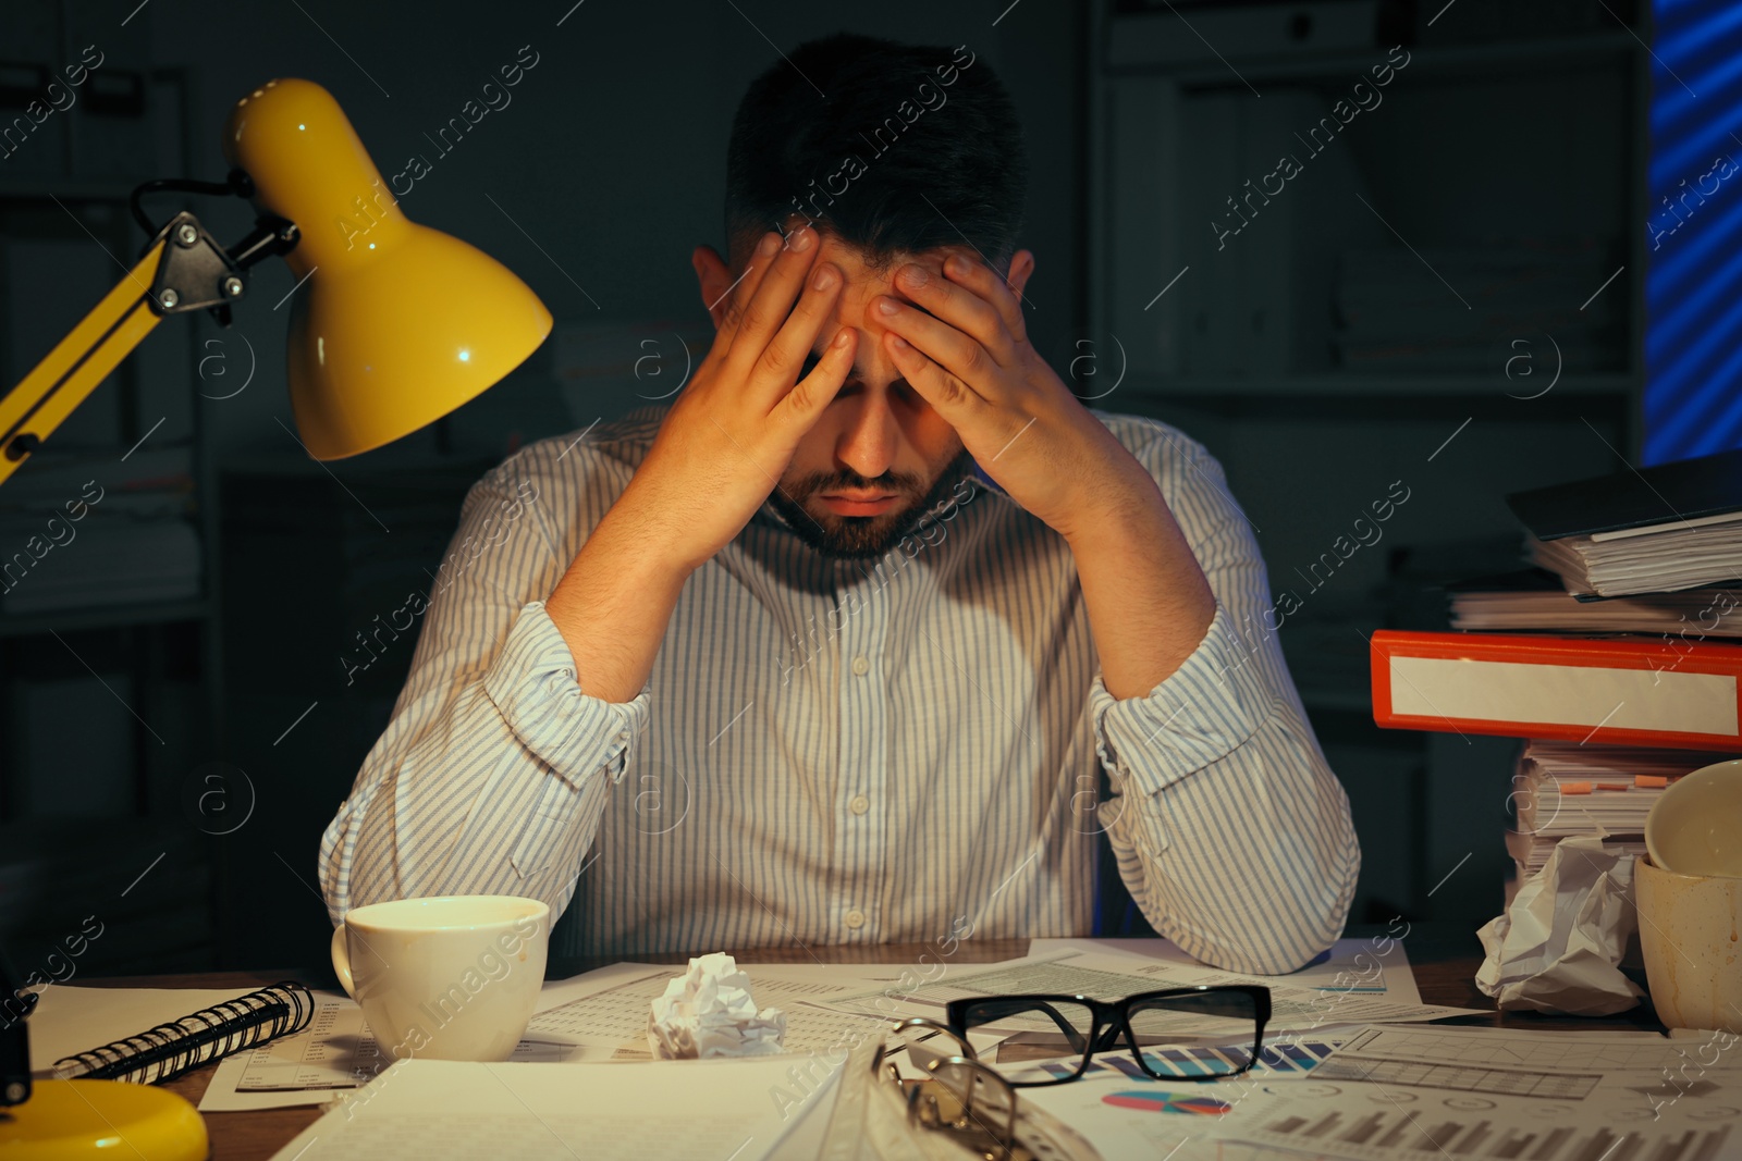
[[[1639,950],[1657,1018],[1742,1032],[1742,879],[1678,876],[1634,862]]]

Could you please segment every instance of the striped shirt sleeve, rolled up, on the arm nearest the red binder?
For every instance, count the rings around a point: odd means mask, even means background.
[[[1158,425],[1157,425],[1158,426]],[[1348,797],[1282,658],[1286,616],[1221,465],[1172,428],[1134,451],[1216,595],[1197,649],[1143,696],[1089,691],[1096,750],[1124,802],[1104,815],[1120,877],[1186,952],[1293,971],[1343,931],[1361,870]]]

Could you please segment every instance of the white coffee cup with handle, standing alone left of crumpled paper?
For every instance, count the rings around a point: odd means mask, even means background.
[[[333,970],[394,1060],[507,1060],[544,985],[550,909],[516,895],[352,907]]]

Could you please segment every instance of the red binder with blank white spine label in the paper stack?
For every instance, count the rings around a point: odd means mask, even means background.
[[[1376,630],[1387,729],[1733,750],[1742,646],[1625,637]]]

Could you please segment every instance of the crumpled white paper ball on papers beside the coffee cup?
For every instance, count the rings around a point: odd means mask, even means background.
[[[648,1013],[648,1048],[655,1060],[772,1057],[786,1051],[786,1013],[756,1011],[751,978],[725,952],[690,961],[665,985]]]

